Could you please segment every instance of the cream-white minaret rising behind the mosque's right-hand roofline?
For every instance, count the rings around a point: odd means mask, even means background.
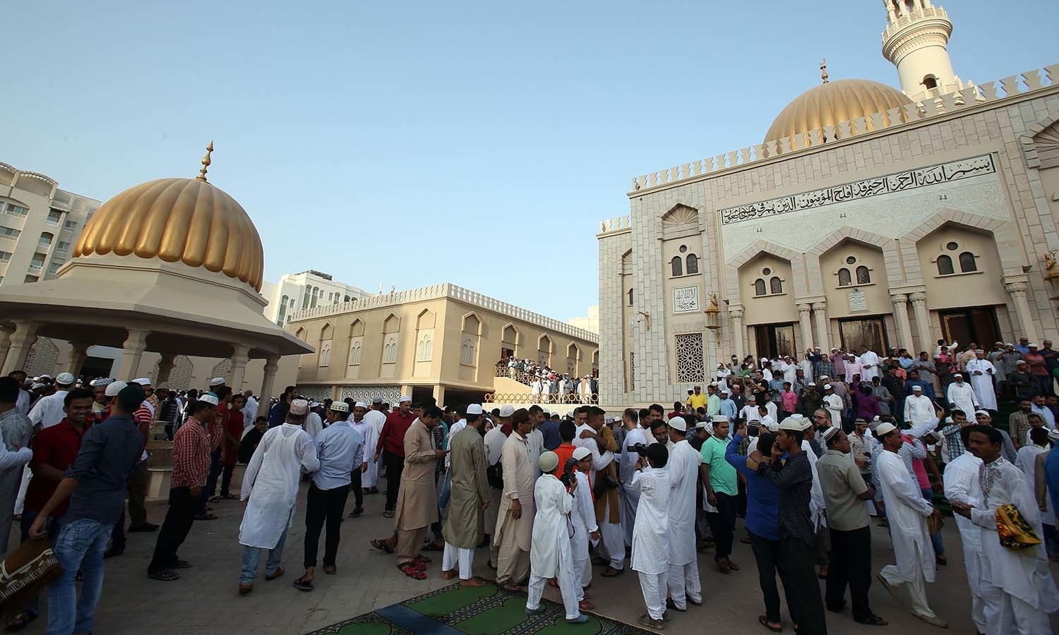
[[[882,55],[897,67],[901,90],[916,102],[956,92],[963,83],[949,61],[949,14],[930,0],[883,0],[886,30],[882,33]]]

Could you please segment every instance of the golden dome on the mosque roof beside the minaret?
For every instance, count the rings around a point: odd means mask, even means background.
[[[911,104],[901,91],[867,79],[839,79],[813,87],[784,108],[769,128],[765,141],[778,141],[784,137],[804,134],[809,130],[838,126],[858,116],[865,117],[865,127],[874,130],[872,115],[882,113],[882,121],[891,125],[886,111]]]

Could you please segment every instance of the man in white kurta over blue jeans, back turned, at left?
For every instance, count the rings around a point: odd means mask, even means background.
[[[291,401],[287,420],[265,433],[247,465],[239,489],[239,500],[250,500],[239,525],[239,544],[244,545],[240,594],[253,589],[262,549],[269,549],[265,579],[283,575],[280,560],[287,529],[294,519],[302,470],[320,469],[316,444],[302,430],[308,412],[309,404],[304,399]]]

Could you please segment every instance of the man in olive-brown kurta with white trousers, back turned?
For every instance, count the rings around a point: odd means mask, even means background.
[[[467,415],[467,427],[449,441],[449,472],[452,493],[442,534],[445,554],[442,577],[452,579],[460,569],[460,584],[482,586],[485,582],[471,575],[474,547],[478,545],[479,523],[489,505],[489,483],[485,477],[485,441],[482,440],[483,418]]]

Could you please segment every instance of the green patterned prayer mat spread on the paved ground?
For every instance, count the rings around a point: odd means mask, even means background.
[[[634,635],[651,633],[587,613],[589,621],[569,624],[562,604],[546,599],[544,613],[530,617],[526,596],[496,584],[452,584],[384,609],[312,631],[307,635]]]

